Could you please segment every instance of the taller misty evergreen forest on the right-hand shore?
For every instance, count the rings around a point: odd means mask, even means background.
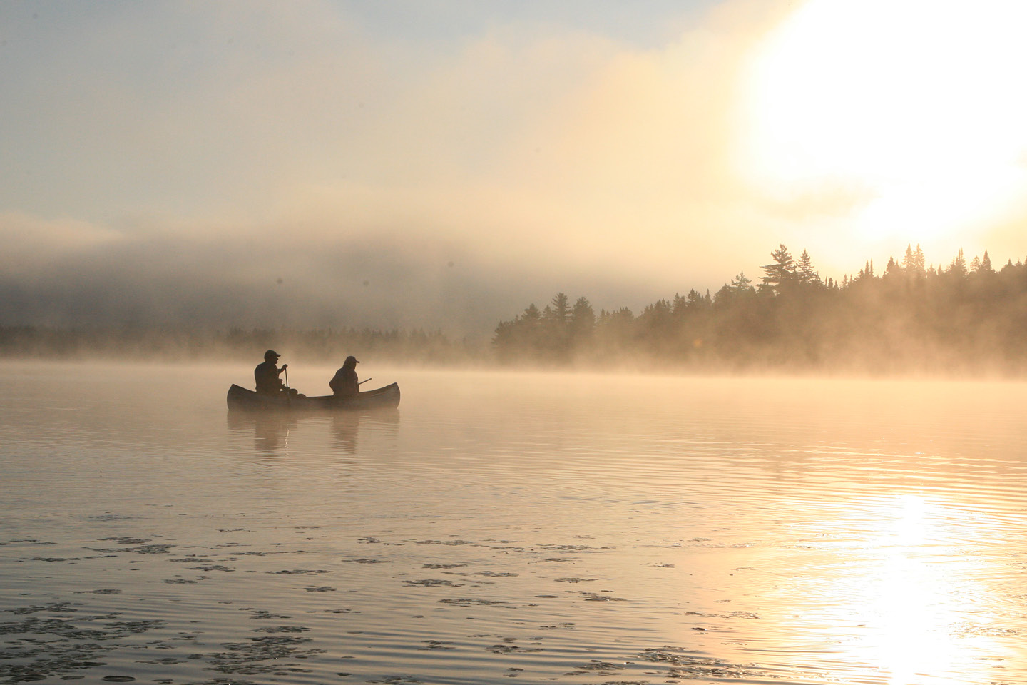
[[[987,252],[926,265],[919,245],[883,272],[868,261],[841,281],[821,278],[806,251],[770,253],[760,282],[738,273],[716,293],[660,299],[638,315],[598,313],[558,293],[500,321],[505,364],[683,370],[1022,373],[1027,369],[1027,267],[996,270]]]

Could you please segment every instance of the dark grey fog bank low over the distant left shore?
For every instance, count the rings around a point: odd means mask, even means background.
[[[350,326],[459,336],[491,333],[525,297],[548,297],[567,281],[614,301],[639,291],[623,276],[557,274],[400,231],[315,244],[279,230],[183,238],[27,219],[4,227],[6,326]]]

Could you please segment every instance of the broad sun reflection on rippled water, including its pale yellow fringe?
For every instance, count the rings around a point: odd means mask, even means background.
[[[768,644],[801,635],[811,669],[889,685],[990,682],[1018,658],[989,586],[1007,569],[982,549],[996,542],[995,522],[916,492],[822,509],[810,528],[824,536],[775,585],[770,604],[785,619],[766,626]]]

